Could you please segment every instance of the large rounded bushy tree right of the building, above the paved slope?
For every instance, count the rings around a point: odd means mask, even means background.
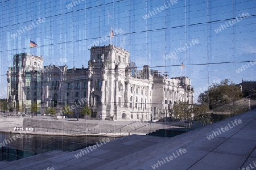
[[[222,80],[220,84],[212,84],[207,91],[198,97],[200,104],[209,104],[209,109],[241,99],[243,97],[240,88],[228,79]]]

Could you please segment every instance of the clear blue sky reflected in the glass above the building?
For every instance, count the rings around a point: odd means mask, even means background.
[[[162,6],[164,10],[158,12]],[[248,17],[216,32],[246,12]],[[110,28],[122,29],[121,33],[115,32],[112,44],[128,50],[138,67],[150,65],[175,77],[181,75],[183,62],[182,74],[192,79],[195,89],[214,79],[229,78],[234,83],[240,83],[242,78],[255,80],[256,65],[236,71],[246,61],[256,59],[255,14],[253,0],[178,0],[173,4],[166,0],[0,0],[0,91],[7,86],[5,74],[13,65],[14,54],[43,56],[44,65],[65,58],[69,68],[87,67],[88,46],[108,36]],[[144,19],[145,15],[148,19]],[[45,22],[36,23],[42,18]],[[23,31],[29,25],[32,28]],[[12,37],[15,33],[17,36]],[[30,48],[30,40],[38,47]],[[167,57],[192,40],[199,43]],[[108,44],[109,40],[100,43]],[[0,96],[3,97],[6,96]]]

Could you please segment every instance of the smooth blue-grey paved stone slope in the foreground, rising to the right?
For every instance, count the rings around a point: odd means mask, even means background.
[[[256,109],[173,138],[129,135],[73,152],[1,162],[1,169],[256,169]],[[92,148],[90,148],[92,149]],[[88,151],[88,152],[86,152]]]

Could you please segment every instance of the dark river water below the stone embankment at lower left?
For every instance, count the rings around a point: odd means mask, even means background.
[[[65,135],[31,135],[0,132],[0,161],[13,161],[53,150],[75,151],[92,146],[103,138],[113,137],[69,137]]]

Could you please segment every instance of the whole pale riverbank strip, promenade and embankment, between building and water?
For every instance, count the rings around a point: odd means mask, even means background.
[[[20,133],[14,127],[33,128],[34,131],[26,131],[27,134],[40,135],[96,135],[109,137],[123,137],[132,134],[146,135],[159,129],[181,128],[179,122],[148,122],[129,120],[85,120],[79,118],[56,119],[49,116],[2,116],[0,113],[0,131]]]

